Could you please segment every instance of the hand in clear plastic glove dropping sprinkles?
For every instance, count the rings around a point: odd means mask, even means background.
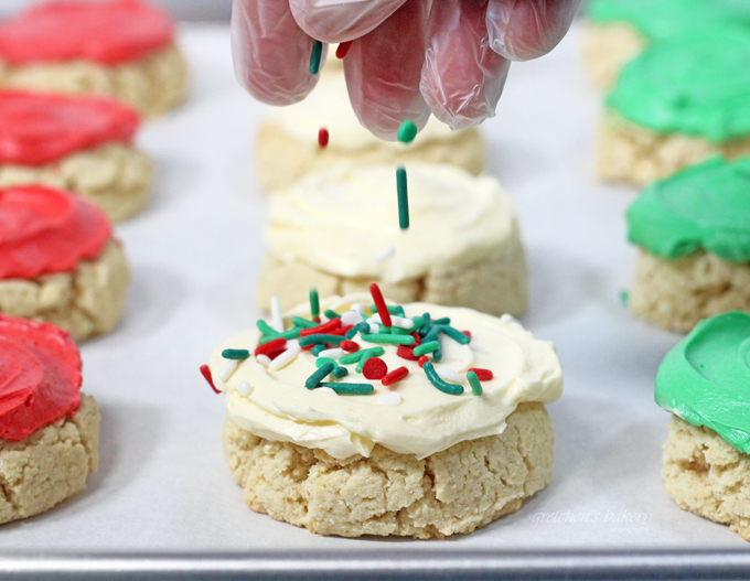
[[[289,105],[318,82],[313,39],[354,40],[344,69],[360,121],[395,139],[430,111],[453,129],[495,115],[511,61],[536,58],[567,32],[581,0],[234,0],[240,83]]]

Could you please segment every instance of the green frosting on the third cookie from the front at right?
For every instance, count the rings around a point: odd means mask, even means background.
[[[651,43],[623,67],[606,103],[660,133],[715,143],[747,137],[750,28],[709,28]]]

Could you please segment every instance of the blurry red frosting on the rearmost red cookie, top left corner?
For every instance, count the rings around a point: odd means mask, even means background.
[[[173,41],[170,18],[140,0],[58,0],[0,23],[0,58],[12,66],[75,58],[117,65]]]

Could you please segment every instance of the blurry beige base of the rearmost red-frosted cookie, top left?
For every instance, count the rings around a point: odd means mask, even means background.
[[[176,107],[188,89],[188,65],[172,44],[135,63],[105,66],[89,61],[11,67],[0,62],[0,86],[116,97],[147,117]]]

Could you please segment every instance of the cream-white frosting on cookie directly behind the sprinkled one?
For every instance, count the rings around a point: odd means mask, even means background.
[[[397,282],[479,262],[518,243],[515,211],[494,177],[446,164],[406,169],[408,230],[399,228],[396,169],[342,163],[274,195],[268,250],[338,276]],[[393,256],[379,260],[388,248]]]

